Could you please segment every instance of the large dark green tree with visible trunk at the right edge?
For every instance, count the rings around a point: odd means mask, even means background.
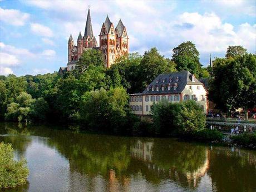
[[[248,120],[247,110],[256,106],[256,55],[218,58],[213,74],[209,99],[224,111],[242,107]]]

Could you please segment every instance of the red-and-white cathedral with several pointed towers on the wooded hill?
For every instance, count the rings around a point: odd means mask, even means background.
[[[72,35],[67,43],[68,47],[68,62],[67,67],[60,67],[59,72],[71,71],[76,68],[76,62],[81,57],[83,51],[88,49],[96,49],[102,52],[105,67],[110,67],[116,58],[127,55],[129,53],[129,38],[127,31],[119,20],[116,28],[110,21],[109,16],[106,17],[100,31],[100,46],[97,43],[96,37],[93,35],[90,8],[88,9],[87,20],[85,25],[85,33],[82,36],[81,32],[77,38],[77,45],[73,40]]]

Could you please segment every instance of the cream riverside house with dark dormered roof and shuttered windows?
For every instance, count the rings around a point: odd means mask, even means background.
[[[207,91],[200,81],[188,71],[161,74],[142,93],[130,95],[130,107],[136,115],[150,115],[155,102],[181,102],[195,100],[208,112]]]

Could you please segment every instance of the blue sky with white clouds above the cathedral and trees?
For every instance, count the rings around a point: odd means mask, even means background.
[[[108,15],[121,18],[129,51],[152,47],[171,58],[180,43],[192,41],[203,66],[225,57],[228,46],[256,51],[256,1],[78,1],[0,0],[0,75],[52,73],[67,64],[67,41],[85,32],[90,6],[93,34],[99,43]]]

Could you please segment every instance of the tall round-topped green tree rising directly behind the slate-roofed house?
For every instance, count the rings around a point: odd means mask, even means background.
[[[191,41],[183,42],[173,48],[172,60],[176,63],[178,71],[189,71],[200,77],[199,52]]]

